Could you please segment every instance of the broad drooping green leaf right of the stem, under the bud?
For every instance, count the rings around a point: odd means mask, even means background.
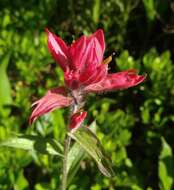
[[[68,135],[96,161],[101,173],[107,177],[112,177],[114,172],[110,159],[105,155],[104,149],[96,135],[88,128],[81,127]]]

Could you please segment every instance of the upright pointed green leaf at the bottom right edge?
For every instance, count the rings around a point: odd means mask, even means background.
[[[170,145],[162,138],[162,150],[159,157],[160,188],[170,190],[174,179],[174,158]]]

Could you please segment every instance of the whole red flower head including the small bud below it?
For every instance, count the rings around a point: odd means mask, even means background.
[[[71,106],[73,113],[69,128],[77,128],[87,113],[82,111],[86,94],[126,89],[144,81],[145,76],[136,70],[108,73],[111,57],[103,60],[105,51],[104,34],[101,29],[91,36],[82,36],[71,45],[46,29],[48,49],[64,72],[65,86],[49,90],[36,101],[30,123],[39,116],[57,108]]]

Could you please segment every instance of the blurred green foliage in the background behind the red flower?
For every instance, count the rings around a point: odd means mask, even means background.
[[[88,97],[88,123],[113,161],[116,176],[101,175],[86,158],[69,190],[174,189],[174,3],[170,0],[1,0],[0,139],[39,134],[63,142],[68,109],[28,125],[31,104],[63,84],[45,27],[71,43],[103,28],[110,72],[136,68],[147,80],[135,88]],[[61,160],[1,148],[0,190],[55,190]]]

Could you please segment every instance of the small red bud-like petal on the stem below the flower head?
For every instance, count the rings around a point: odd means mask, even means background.
[[[75,113],[74,115],[72,115],[69,128],[70,129],[79,128],[81,126],[82,122],[84,121],[84,119],[86,118],[86,116],[87,116],[87,112],[85,112],[85,111]]]

